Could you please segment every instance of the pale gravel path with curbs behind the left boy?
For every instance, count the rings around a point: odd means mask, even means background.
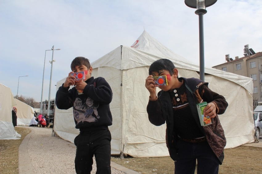
[[[19,127],[26,127],[26,126],[19,126]],[[57,144],[59,142],[59,144],[60,144],[59,147],[63,148],[66,151],[66,157],[65,157],[66,159],[64,159],[65,163],[62,164],[62,166],[65,169],[65,168],[68,168],[68,163],[69,163],[69,165],[71,164],[69,167],[71,168],[70,172],[72,173],[72,171],[74,170],[74,163],[70,162],[70,161],[72,161],[72,159],[70,160],[69,158],[74,159],[74,156],[72,156],[72,153],[70,155],[69,151],[75,153],[76,146],[74,144],[63,140],[63,139],[59,138],[58,136],[57,137],[51,137],[51,129],[39,128],[39,127],[26,127],[26,128],[31,129],[31,133],[29,133],[24,138],[21,145],[19,146],[19,152],[18,152],[19,153],[18,154],[18,156],[19,156],[19,166],[18,166],[19,174],[35,174],[35,173],[45,173],[45,172],[46,173],[60,173],[60,171],[53,171],[52,172],[52,171],[47,171],[46,169],[44,170],[44,172],[41,171],[41,168],[44,167],[43,164],[44,164],[45,159],[43,157],[44,157],[45,154],[48,154],[48,153],[42,153],[40,151],[41,148],[43,148],[43,145],[45,145],[45,144],[43,144],[43,142],[45,142],[45,141],[53,141],[52,143],[54,143],[54,144]],[[36,134],[38,134],[38,132],[40,132],[40,133],[44,132],[44,135],[39,134],[39,135],[36,136]],[[40,141],[38,139],[39,136],[41,137],[41,140],[43,140],[43,141]],[[42,147],[39,148],[38,147],[39,145],[42,146]],[[66,149],[66,148],[68,148],[68,145],[70,145],[69,150]],[[36,148],[36,150],[38,150],[37,154],[33,153],[33,155],[32,155],[32,151],[33,151],[32,147]],[[52,149],[52,150],[56,151],[56,149]],[[59,149],[58,149],[58,151],[59,151]],[[59,154],[61,154],[61,152],[59,152]],[[63,157],[59,157],[59,156],[56,156],[56,157],[57,158],[55,160],[61,160],[61,158],[63,158]],[[49,158],[49,159],[51,159],[51,158]],[[56,164],[52,163],[52,160],[50,161],[49,164],[50,165],[52,165],[52,164],[56,165]],[[95,160],[94,160],[94,164],[95,164]],[[58,166],[55,166],[55,167],[58,167]],[[138,174],[138,172],[135,172],[133,170],[125,168],[121,165],[118,165],[118,164],[112,162],[112,161],[111,161],[111,167],[113,168],[113,170],[111,169],[112,174],[114,174],[114,173],[115,174],[116,173]],[[37,168],[37,169],[35,169],[35,168]],[[66,171],[64,171],[64,169],[63,169],[63,172],[67,173]],[[93,170],[94,170],[94,168],[93,168]]]

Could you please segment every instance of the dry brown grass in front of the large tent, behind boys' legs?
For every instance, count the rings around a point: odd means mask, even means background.
[[[225,149],[219,174],[257,174],[262,171],[262,148],[239,146]],[[170,157],[133,158],[112,156],[111,161],[142,174],[174,174],[174,161]],[[196,173],[196,172],[195,172]]]

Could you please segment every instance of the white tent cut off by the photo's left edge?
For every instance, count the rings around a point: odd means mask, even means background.
[[[0,139],[19,139],[12,122],[14,105],[11,89],[0,83]]]

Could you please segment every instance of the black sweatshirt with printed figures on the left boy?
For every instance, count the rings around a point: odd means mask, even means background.
[[[108,129],[108,126],[112,125],[109,108],[113,97],[112,90],[103,77],[91,77],[86,83],[83,94],[78,94],[75,87],[69,89],[60,86],[55,104],[58,109],[73,107],[76,129],[80,129],[80,132]]]

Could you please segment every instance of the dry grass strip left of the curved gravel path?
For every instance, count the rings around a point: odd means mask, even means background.
[[[21,135],[18,140],[0,140],[0,174],[18,173],[18,149],[25,136],[31,132],[29,128],[14,128]]]

